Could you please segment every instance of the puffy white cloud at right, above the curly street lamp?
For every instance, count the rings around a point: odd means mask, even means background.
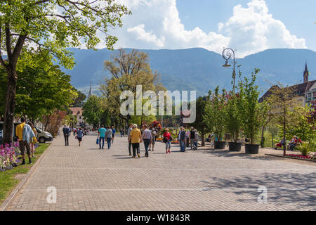
[[[305,39],[292,35],[284,23],[268,13],[263,0],[252,0],[247,8],[235,6],[233,15],[218,32],[231,37],[230,46],[238,49],[238,56],[273,48],[305,49]]]

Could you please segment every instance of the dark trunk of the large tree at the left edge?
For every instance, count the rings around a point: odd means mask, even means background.
[[[13,143],[13,120],[15,110],[15,91],[17,75],[15,67],[9,64],[7,68],[8,82],[6,89],[6,108],[4,110],[4,141],[3,143]]]

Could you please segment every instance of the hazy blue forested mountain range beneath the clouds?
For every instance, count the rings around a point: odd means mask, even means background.
[[[131,49],[125,49],[127,52]],[[104,70],[103,62],[110,60],[117,50],[98,51],[86,49],[70,49],[74,53],[76,65],[72,70],[62,69],[72,76],[72,85],[88,93],[89,83],[93,85],[96,94],[98,85],[110,73]],[[223,68],[225,60],[213,51],[206,49],[179,50],[138,50],[148,54],[150,67],[160,74],[162,84],[170,91],[196,90],[197,96],[208,94],[209,90],[231,89],[232,67]],[[303,82],[305,63],[308,64],[310,80],[316,79],[316,52],[308,49],[268,49],[244,58],[237,58],[241,65],[242,76],[251,75],[254,68],[261,71],[257,83],[262,91],[272,84],[281,82],[284,85],[294,85]],[[232,62],[230,62],[232,65]],[[238,68],[236,68],[238,80]]]

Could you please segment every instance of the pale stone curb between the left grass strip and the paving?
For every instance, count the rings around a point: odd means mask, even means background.
[[[34,170],[37,168],[37,166],[39,165],[41,160],[44,158],[44,156],[46,155],[48,150],[50,150],[51,146],[53,146],[52,143],[50,146],[48,146],[48,148],[45,150],[45,152],[39,157],[39,160],[37,160],[37,162],[35,162],[34,165],[31,167],[31,169],[29,169],[29,172],[27,172],[27,174],[25,174],[25,176],[19,182],[19,184],[13,189],[13,191],[11,191],[10,195],[8,195],[6,200],[4,200],[4,202],[0,205],[0,211],[6,211],[8,206],[11,204],[13,198],[15,198],[15,196],[21,191],[22,186],[25,184],[27,179],[29,179],[29,176],[31,176],[33,174]]]

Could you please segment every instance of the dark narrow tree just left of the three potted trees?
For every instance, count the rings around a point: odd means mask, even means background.
[[[207,96],[197,98],[197,101],[196,101],[197,119],[195,120],[194,123],[191,124],[192,127],[195,127],[197,131],[201,132],[201,139],[202,139],[201,146],[205,146],[205,134],[211,131],[211,129],[209,129],[209,127],[206,126],[206,123],[203,120],[206,103],[207,103]]]

